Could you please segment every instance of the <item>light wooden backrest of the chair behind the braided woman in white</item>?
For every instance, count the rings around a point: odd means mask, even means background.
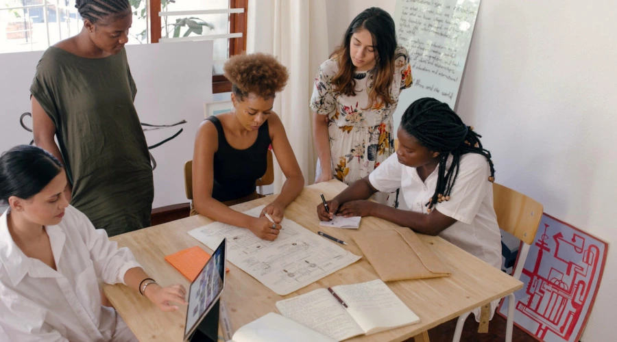
[[[531,245],[544,211],[540,202],[493,183],[493,207],[499,228]]]

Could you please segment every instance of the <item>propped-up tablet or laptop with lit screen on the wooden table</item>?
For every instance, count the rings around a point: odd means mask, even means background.
[[[225,285],[226,252],[225,238],[197,278],[191,282],[189,305],[186,307],[184,341],[217,341],[219,298]],[[210,311],[212,313],[208,315]],[[211,334],[214,336],[211,337]]]

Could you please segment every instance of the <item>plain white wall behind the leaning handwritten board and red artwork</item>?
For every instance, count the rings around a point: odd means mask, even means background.
[[[394,0],[331,1],[329,42],[359,12]],[[347,11],[345,14],[342,11]],[[612,14],[608,15],[608,14]],[[496,179],[544,211],[617,242],[617,3],[482,1],[457,111],[483,135]],[[332,23],[330,25],[330,23]],[[413,70],[412,70],[413,71]],[[617,260],[608,260],[581,341],[613,341]]]

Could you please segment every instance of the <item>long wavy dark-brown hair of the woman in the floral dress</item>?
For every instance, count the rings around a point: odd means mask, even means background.
[[[374,84],[369,92],[368,107],[385,103],[394,104],[390,96],[390,87],[394,81],[394,51],[396,51],[396,31],[394,20],[381,8],[368,8],[358,14],[345,31],[343,42],[330,57],[336,57],[339,72],[332,78],[332,85],[336,92],[347,96],[356,95],[356,80],[354,79],[355,66],[350,56],[350,42],[352,35],[362,29],[371,33],[375,49]]]

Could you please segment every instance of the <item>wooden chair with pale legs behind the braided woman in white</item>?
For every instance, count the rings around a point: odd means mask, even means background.
[[[533,198],[529,198],[503,185],[493,183],[493,208],[497,214],[499,228],[524,242],[518,253],[516,267],[514,267],[512,272],[514,278],[520,279],[525,259],[527,259],[527,254],[529,253],[529,247],[531,247],[533,239],[535,239],[537,226],[542,219],[544,207],[542,207],[540,202],[533,200]],[[514,293],[510,293],[508,295],[508,318],[506,324],[507,342],[512,341],[514,304]],[[461,340],[463,324],[465,324],[465,319],[467,319],[470,313],[471,311],[459,316],[452,341],[459,342]]]

